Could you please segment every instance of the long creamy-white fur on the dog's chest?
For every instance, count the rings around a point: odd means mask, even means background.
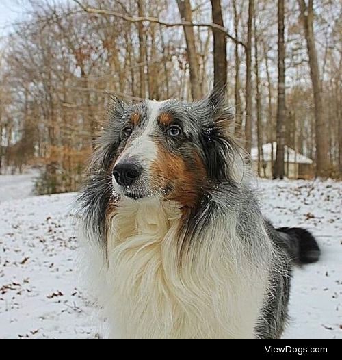
[[[129,201],[109,220],[101,297],[111,337],[255,337],[267,271],[254,271],[240,240],[229,238],[233,220],[206,229],[179,263],[180,218],[175,203]]]

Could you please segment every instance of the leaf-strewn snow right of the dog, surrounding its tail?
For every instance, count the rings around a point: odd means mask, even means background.
[[[263,213],[277,226],[310,230],[318,263],[295,268],[285,339],[342,339],[342,183],[259,181]]]

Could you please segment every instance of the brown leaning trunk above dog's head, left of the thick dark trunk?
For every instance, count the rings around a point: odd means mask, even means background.
[[[192,23],[192,8],[190,0],[177,0],[179,14],[183,21]],[[200,83],[198,81],[198,58],[196,52],[194,27],[192,25],[185,25],[184,27],[185,40],[187,42],[187,57],[190,70],[190,82],[192,85],[192,98],[198,100],[202,97],[200,91]]]

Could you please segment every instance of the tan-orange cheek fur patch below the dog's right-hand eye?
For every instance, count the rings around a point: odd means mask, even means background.
[[[196,207],[201,196],[202,181],[207,179],[205,166],[194,151],[194,166],[189,168],[185,160],[157,144],[157,160],[151,166],[152,184],[156,188],[172,185],[168,200],[176,201],[183,207]]]

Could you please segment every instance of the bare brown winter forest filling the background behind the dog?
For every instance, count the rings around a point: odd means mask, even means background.
[[[24,2],[0,38],[0,174],[34,167],[38,194],[77,191],[111,97],[223,86],[259,176],[289,175],[291,149],[312,160],[304,178],[341,179],[339,0]]]

